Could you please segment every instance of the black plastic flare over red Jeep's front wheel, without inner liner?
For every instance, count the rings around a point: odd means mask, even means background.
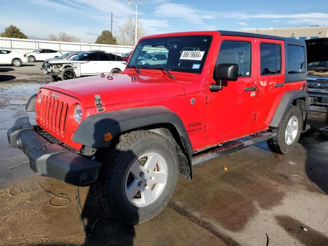
[[[104,134],[110,132],[113,138],[122,132],[155,124],[171,124],[177,130],[184,145],[187,157],[191,160],[192,145],[180,117],[162,106],[131,108],[98,113],[81,122],[73,135],[73,141],[99,149],[108,147],[111,141],[104,140]]]

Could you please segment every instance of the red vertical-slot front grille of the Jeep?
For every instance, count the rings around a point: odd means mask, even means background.
[[[44,96],[40,106],[40,124],[52,135],[64,137],[68,104],[50,96]]]

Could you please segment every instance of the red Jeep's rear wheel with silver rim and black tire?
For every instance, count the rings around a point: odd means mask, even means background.
[[[301,135],[302,126],[303,120],[300,109],[293,105],[290,106],[280,126],[271,129],[273,132],[277,132],[277,136],[268,140],[270,150],[281,154],[292,152]]]

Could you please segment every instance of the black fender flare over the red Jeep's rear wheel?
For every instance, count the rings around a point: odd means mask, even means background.
[[[276,112],[270,122],[270,127],[275,128],[280,126],[281,121],[283,120],[284,115],[288,112],[290,105],[297,106],[301,110],[303,130],[305,130],[306,119],[309,111],[309,95],[303,90],[288,91],[282,96]]]

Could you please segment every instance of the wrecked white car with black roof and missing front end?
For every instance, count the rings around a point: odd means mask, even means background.
[[[88,51],[72,59],[48,62],[46,73],[62,80],[101,73],[119,73],[125,69],[126,61],[118,55],[105,51]]]

